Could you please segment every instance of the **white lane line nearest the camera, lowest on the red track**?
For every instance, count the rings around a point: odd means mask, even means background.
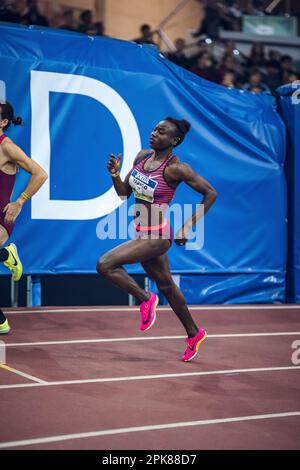
[[[82,432],[82,433],[76,433],[76,434],[61,434],[58,436],[37,437],[35,439],[24,439],[21,441],[1,442],[0,449],[7,449],[9,447],[32,446],[36,444],[49,444],[51,442],[70,441],[73,439],[87,439],[91,437],[113,436],[116,434],[127,434],[127,433],[132,433],[132,432],[160,431],[163,429],[187,428],[187,427],[192,427],[192,426],[207,426],[210,424],[240,423],[243,421],[256,421],[256,420],[275,419],[275,418],[290,418],[293,416],[300,416],[300,411],[291,411],[288,413],[253,415],[253,416],[238,416],[235,418],[202,419],[199,421],[186,421],[186,422],[177,422],[177,423],[168,423],[168,424],[154,424],[151,426],[135,426],[135,427],[129,427],[129,428],[105,429],[101,431]]]

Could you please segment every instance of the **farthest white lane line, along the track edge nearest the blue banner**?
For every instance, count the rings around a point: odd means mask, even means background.
[[[172,311],[170,307],[161,307],[158,306],[158,311]],[[189,310],[195,311],[195,310],[299,310],[300,311],[300,305],[199,305],[199,306],[189,306]],[[36,309],[36,310],[26,310],[26,309],[18,309],[18,310],[9,310],[5,309],[5,314],[11,315],[11,314],[18,314],[18,313],[82,313],[82,312],[135,312],[139,311],[139,307],[82,307],[80,309],[78,308],[52,308],[52,309],[47,309],[47,308],[42,308],[42,309]]]

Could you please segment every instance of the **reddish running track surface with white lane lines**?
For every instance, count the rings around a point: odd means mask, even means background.
[[[0,449],[300,449],[300,307],[193,309],[191,363],[169,309],[58,310],[6,311]]]

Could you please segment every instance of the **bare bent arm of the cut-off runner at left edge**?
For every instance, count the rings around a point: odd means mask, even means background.
[[[22,193],[15,202],[10,202],[4,208],[3,212],[6,212],[5,221],[11,224],[21,212],[25,202],[40,189],[48,175],[38,163],[27,157],[23,150],[12,141],[4,142],[3,152],[10,162],[15,163],[31,175],[24,190],[25,197],[23,196],[24,193]]]

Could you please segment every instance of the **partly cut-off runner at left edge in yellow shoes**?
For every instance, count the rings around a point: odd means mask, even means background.
[[[19,281],[23,268],[16,245],[6,243],[12,234],[16,218],[26,201],[28,201],[47,179],[47,173],[31,158],[27,157],[23,150],[9,139],[3,131],[10,124],[15,126],[22,124],[22,118],[14,116],[12,106],[0,103],[0,262],[12,271],[14,281]],[[25,191],[15,200],[11,201],[16,172],[21,167],[31,175]],[[4,313],[0,309],[0,334],[10,331],[10,326]]]

